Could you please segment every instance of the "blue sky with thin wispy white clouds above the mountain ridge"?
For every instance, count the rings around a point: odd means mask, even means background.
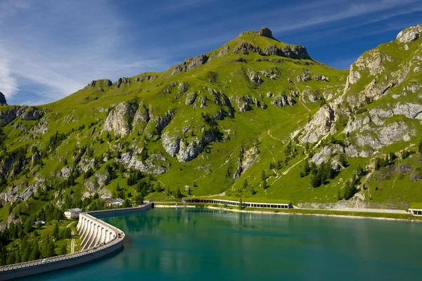
[[[94,79],[167,70],[262,26],[348,68],[421,19],[422,0],[0,0],[0,91],[9,104],[50,103]]]

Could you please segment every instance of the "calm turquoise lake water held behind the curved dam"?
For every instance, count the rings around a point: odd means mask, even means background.
[[[422,223],[153,209],[124,251],[25,280],[421,280]]]

